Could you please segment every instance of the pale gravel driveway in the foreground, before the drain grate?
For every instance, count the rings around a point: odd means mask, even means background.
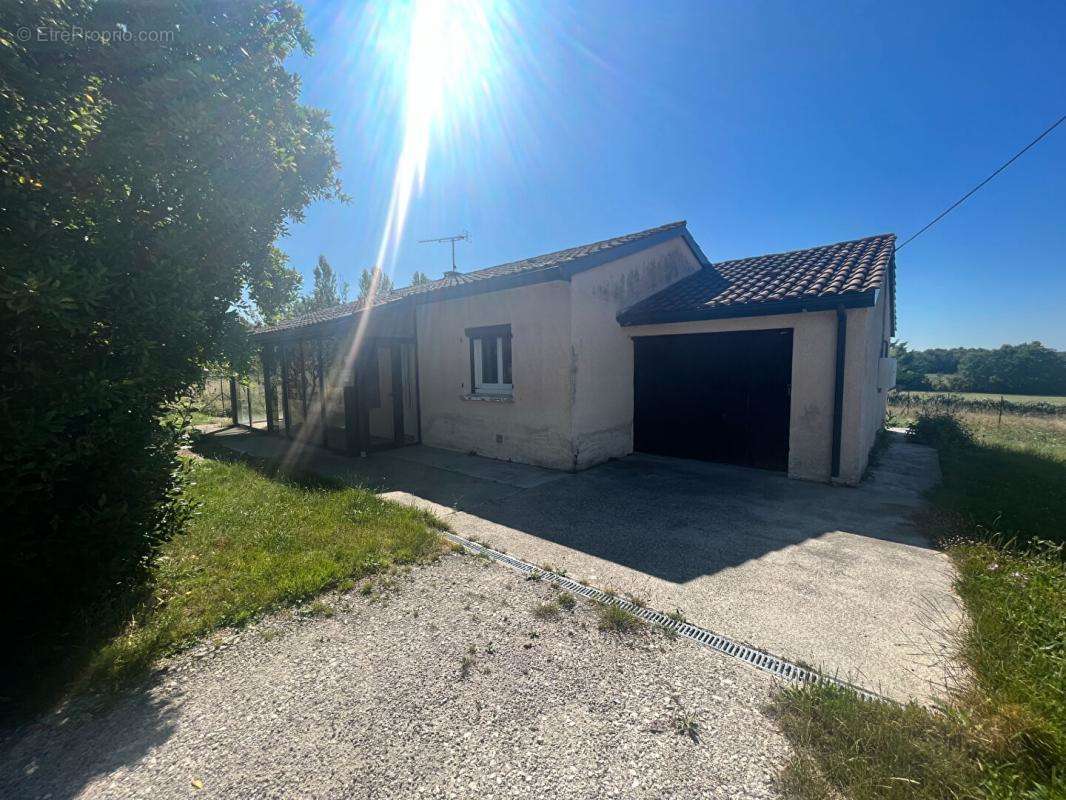
[[[9,733],[0,795],[776,797],[790,751],[761,711],[769,676],[601,633],[581,601],[538,620],[551,587],[468,556],[384,580],[322,598],[332,617],[221,634],[104,711]]]

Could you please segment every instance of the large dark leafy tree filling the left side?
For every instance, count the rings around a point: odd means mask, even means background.
[[[0,513],[16,633],[104,607],[180,522],[176,435],[158,420],[205,366],[240,363],[241,311],[293,294],[275,239],[340,196],[328,119],[286,69],[310,49],[290,0],[4,4]],[[33,641],[7,646],[49,650]]]

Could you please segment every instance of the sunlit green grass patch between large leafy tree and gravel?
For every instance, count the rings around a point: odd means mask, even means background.
[[[371,492],[222,458],[190,469],[195,515],[159,554],[150,596],[88,660],[84,686],[120,685],[215,628],[442,548],[430,514]]]

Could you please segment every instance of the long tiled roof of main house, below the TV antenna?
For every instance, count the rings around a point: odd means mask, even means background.
[[[596,256],[605,253],[607,251],[614,250],[615,247],[639,242],[642,239],[647,239],[659,234],[665,234],[671,230],[677,230],[680,234],[684,230],[684,226],[685,223],[681,220],[679,222],[672,222],[668,225],[660,225],[659,227],[641,230],[635,234],[616,236],[612,239],[593,242],[592,244],[581,244],[577,247],[568,247],[567,250],[547,253],[543,256],[524,258],[520,261],[510,261],[508,263],[501,263],[496,267],[488,267],[474,272],[448,272],[445,274],[445,277],[437,281],[431,281],[427,284],[419,284],[417,286],[406,286],[402,289],[394,289],[387,294],[378,295],[373,305],[376,307],[395,303],[408,298],[434,294],[442,292],[446,289],[477,284],[482,281],[488,281],[489,278],[506,278],[512,275],[534,273],[542,270],[550,270],[556,267],[572,265],[581,259],[586,259],[589,256]],[[485,289],[486,291],[492,290],[490,285],[486,285]],[[425,300],[429,301],[430,298],[426,298]],[[323,308],[300,317],[282,320],[274,325],[260,327],[256,330],[255,333],[274,333],[277,331],[288,331],[297,327],[305,327],[307,325],[316,325],[321,322],[329,322],[330,320],[356,314],[360,311],[365,305],[366,304],[362,301],[356,301],[354,303],[344,303],[343,305],[334,306],[332,308]]]

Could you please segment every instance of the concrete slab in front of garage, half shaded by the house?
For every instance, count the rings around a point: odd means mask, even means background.
[[[228,441],[255,454],[287,445],[246,436],[264,442]],[[890,697],[928,699],[944,679],[963,617],[950,561],[914,519],[939,466],[902,435],[859,487],[650,455],[570,475],[426,450],[311,462],[333,475],[346,463],[349,480],[459,535]]]

